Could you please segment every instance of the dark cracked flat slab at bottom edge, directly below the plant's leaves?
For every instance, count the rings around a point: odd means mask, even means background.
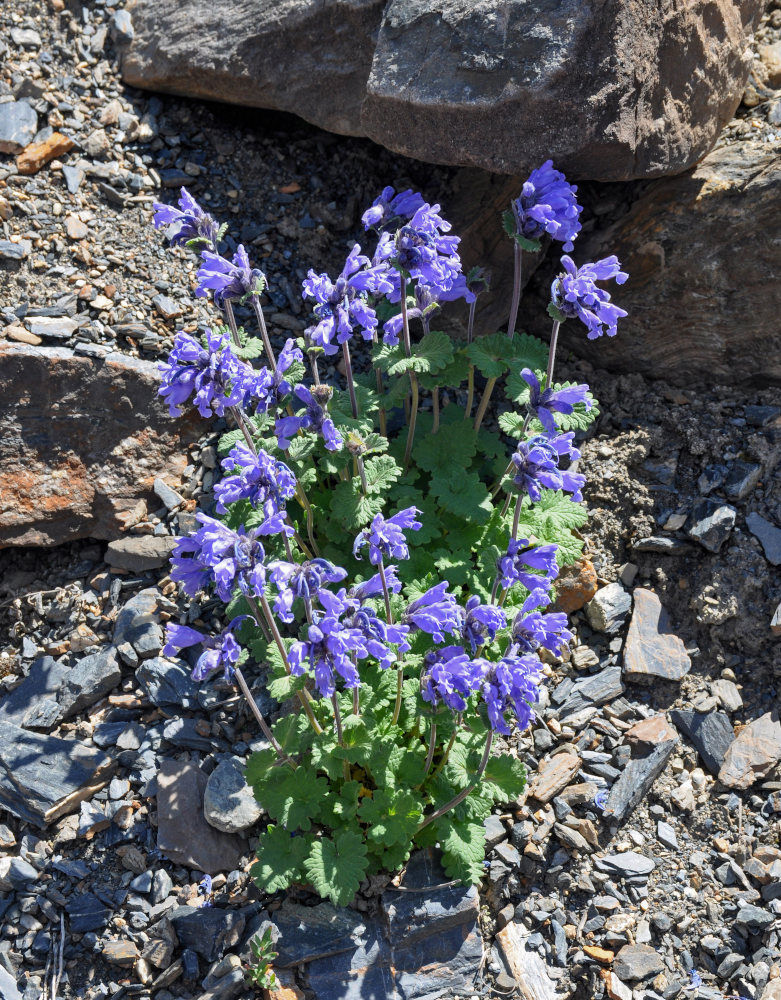
[[[306,964],[317,1000],[435,1000],[463,992],[483,960],[479,898],[474,886],[440,888],[446,881],[434,853],[421,851],[407,865],[402,891],[383,894],[381,919],[285,901],[274,914],[275,964]]]

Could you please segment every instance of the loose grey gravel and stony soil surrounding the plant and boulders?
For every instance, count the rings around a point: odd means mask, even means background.
[[[19,261],[0,253],[0,315],[10,339],[30,340],[24,320],[35,309],[60,315],[72,309],[87,322],[67,337],[55,328],[45,343],[156,359],[165,356],[176,329],[210,318],[190,294],[192,261],[164,250],[151,232],[151,202],[172,200],[182,183],[227,219],[235,238],[262,261],[271,283],[269,319],[279,339],[305,325],[297,289],[306,270],[341,267],[360,236],[361,209],[384,185],[418,187],[447,207],[455,171],[291,118],[126,90],[116,75],[112,36],[103,31],[116,9],[111,3],[73,4],[44,17],[32,3],[7,0],[0,10],[0,101],[32,95],[39,126],[61,128],[78,143],[32,176],[17,174],[13,157],[0,155],[3,238],[29,241]],[[779,27],[781,16],[773,11],[762,41],[776,40]],[[752,108],[741,109],[724,141],[757,130],[772,133],[767,114],[774,105],[758,96],[760,103],[750,97]],[[617,190],[589,186],[592,209]],[[631,199],[625,186],[621,192]],[[618,616],[616,631],[605,633],[587,609],[574,613],[577,646],[567,662],[550,665],[542,722],[514,749],[532,778],[563,752],[578,757],[578,768],[551,805],[533,797],[515,803],[488,831],[493,853],[481,890],[488,962],[466,995],[518,989],[501,935],[520,927],[531,935],[525,947],[547,970],[547,985],[536,993],[527,986],[535,998],[591,1000],[605,991],[629,998],[632,989],[635,1000],[757,998],[781,955],[778,763],[750,787],[733,791],[681,733],[661,775],[625,822],[612,823],[594,797],[618,785],[629,761],[625,734],[643,719],[676,708],[720,711],[737,735],[777,709],[781,640],[770,623],[781,602],[781,545],[771,531],[763,546],[749,518],[759,515],[781,533],[781,392],[762,389],[748,398],[729,386],[681,390],[663,379],[616,378],[599,369],[598,342],[592,364],[564,360],[561,371],[588,381],[603,409],[582,446],[588,557],[600,584],[621,581],[627,591],[640,586],[657,593],[691,670],[680,682],[628,681],[595,713],[568,717],[561,711],[566,685],[621,664],[631,617]],[[180,487],[184,501],[208,503],[213,440],[207,435],[189,456]],[[706,499],[714,501],[712,509],[703,509]],[[131,536],[164,538],[187,530],[186,506],[161,498],[159,509],[139,516]],[[732,508],[734,521],[724,507]],[[723,530],[703,527],[713,511],[726,516]],[[750,523],[756,528],[758,522]],[[118,615],[142,590],[157,590],[158,622],[179,613],[162,559],[156,569],[123,571],[105,557],[105,546],[90,541],[3,551],[0,673],[8,691],[41,655],[75,666],[95,649],[117,644]],[[208,621],[214,610],[206,605],[193,617],[200,613]],[[165,915],[179,903],[198,901],[202,875],[184,854],[171,860],[158,850],[154,776],[160,758],[210,773],[220,760],[246,756],[255,733],[231,692],[218,687],[184,713],[190,728],[170,728],[174,709],[150,699],[135,673],[139,657],[151,653],[150,662],[160,662],[154,658],[160,630],[153,625],[135,646],[130,643],[132,649],[120,651],[119,686],[55,730],[90,746],[99,738],[116,760],[116,784],[93,796],[78,819],[44,831],[0,814],[0,965],[20,982],[28,977],[25,1000],[41,995],[63,911],[62,997],[135,995],[142,986],[160,1000],[251,995],[230,978],[243,924],[233,937],[227,928],[232,911],[249,926],[268,903],[246,875],[250,852],[214,883],[213,909],[226,924],[228,957],[207,957],[208,942],[185,932],[178,942],[171,939]],[[2,706],[0,696],[0,711]],[[112,816],[108,830],[99,830]],[[653,869],[638,863],[637,854],[652,859]],[[620,861],[606,867],[606,856],[624,858],[623,868]],[[13,880],[3,868],[8,858],[17,859]],[[79,923],[73,904],[86,893],[96,900],[93,910],[105,913],[93,922],[81,914]],[[519,950],[507,944],[506,931],[504,941],[507,955]],[[645,950],[630,949],[608,972],[613,955],[627,944]],[[145,957],[137,961],[140,954]],[[528,956],[523,962],[528,966]],[[691,988],[691,970],[703,980],[699,992]],[[220,989],[204,993],[218,981]],[[299,986],[307,986],[305,972]],[[2,989],[0,984],[4,996]]]

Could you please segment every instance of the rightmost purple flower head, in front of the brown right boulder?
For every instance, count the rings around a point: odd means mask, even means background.
[[[596,282],[615,278],[617,284],[623,285],[629,275],[621,270],[618,258],[605,257],[595,264],[575,267],[574,261],[565,255],[561,258],[561,263],[564,265],[564,273],[551,285],[554,318],[579,319],[588,329],[589,340],[595,340],[603,333],[608,337],[615,337],[618,320],[627,315],[626,310],[613,305],[610,292],[599,288]]]

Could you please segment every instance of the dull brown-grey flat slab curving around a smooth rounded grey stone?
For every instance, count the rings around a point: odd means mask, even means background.
[[[236,834],[221,833],[203,816],[207,776],[195,764],[162,760],[157,773],[157,846],[178,864],[216,875],[233,871],[246,851]]]

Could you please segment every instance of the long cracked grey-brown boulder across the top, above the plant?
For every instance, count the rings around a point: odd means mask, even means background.
[[[434,163],[678,173],[748,77],[762,0],[134,0],[127,83],[292,111]]]

